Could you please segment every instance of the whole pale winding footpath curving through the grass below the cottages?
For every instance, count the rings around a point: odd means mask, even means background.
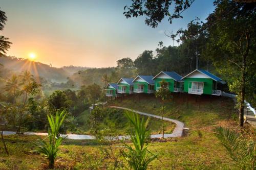
[[[157,116],[154,114],[148,114],[148,113],[143,113],[140,111],[136,111],[136,110],[132,110],[132,109],[128,109],[128,108],[124,108],[124,107],[117,107],[117,106],[109,106],[109,108],[117,108],[117,109],[124,109],[124,110],[129,110],[141,115],[146,115],[146,116],[151,116],[151,117],[155,117],[155,118],[159,118],[162,119],[161,116]],[[178,120],[175,119],[170,119],[170,118],[166,118],[163,117],[164,120],[167,120],[169,122],[173,122],[176,124],[176,127],[173,131],[172,134],[164,134],[165,138],[169,138],[169,137],[181,137],[182,136],[182,132],[183,132],[183,128],[184,128],[184,124],[179,122]],[[4,131],[3,132],[4,135],[15,135],[16,132],[13,131]],[[47,136],[48,133],[40,133],[40,132],[24,132],[24,135],[38,135],[38,136]],[[65,137],[66,135],[61,135],[62,137]],[[160,138],[162,137],[162,134],[156,134],[156,135],[151,135],[151,138]],[[123,139],[123,138],[129,138],[129,136],[118,136],[119,139]],[[92,135],[76,135],[76,134],[69,134],[67,136],[67,139],[95,139],[95,136]]]

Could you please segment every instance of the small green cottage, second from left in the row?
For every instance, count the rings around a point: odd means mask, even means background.
[[[121,78],[117,82],[117,92],[118,93],[126,93],[126,94],[131,94],[133,93],[133,79],[132,78]]]

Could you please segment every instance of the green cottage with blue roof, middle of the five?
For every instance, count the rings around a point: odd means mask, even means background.
[[[137,76],[134,80],[135,93],[154,93],[155,81],[153,76]]]

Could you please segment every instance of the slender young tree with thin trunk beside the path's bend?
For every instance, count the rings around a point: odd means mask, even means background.
[[[160,82],[160,89],[156,92],[156,98],[161,98],[162,100],[162,107],[161,107],[161,111],[162,111],[162,128],[163,128],[163,132],[162,132],[162,138],[164,138],[164,125],[163,125],[163,114],[164,114],[164,101],[171,98],[170,95],[170,91],[168,89],[168,84],[165,82],[165,80],[162,80]]]

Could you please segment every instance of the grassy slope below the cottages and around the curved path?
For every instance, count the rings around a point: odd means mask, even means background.
[[[127,98],[121,103],[114,101],[109,105],[130,107],[136,110],[159,114],[160,102],[155,104],[154,98],[136,97],[133,100]],[[133,101],[136,101],[134,103]],[[188,127],[189,133],[186,137],[171,139],[168,142],[152,142],[149,150],[158,154],[159,160],[154,160],[150,169],[236,169],[234,162],[228,157],[225,149],[220,145],[218,139],[213,135],[212,128],[215,125],[236,126],[231,119],[232,101],[227,99],[202,99],[201,108],[199,103],[191,98],[188,108],[175,98],[166,103],[166,117],[181,120]],[[202,138],[198,135],[202,132]],[[4,154],[3,145],[0,143],[0,169],[37,169],[44,168],[44,159],[40,155],[31,154],[34,149],[30,143],[35,136],[8,136],[7,145],[11,155]],[[102,169],[100,161],[99,145],[95,141],[88,140],[67,140],[60,147],[60,155],[56,163],[59,168],[71,169]]]

